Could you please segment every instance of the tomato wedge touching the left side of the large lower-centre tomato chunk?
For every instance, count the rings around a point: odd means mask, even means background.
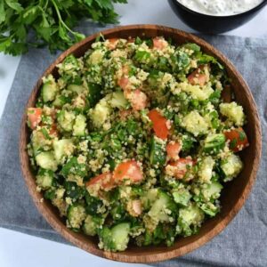
[[[112,173],[107,172],[93,177],[89,182],[85,183],[86,188],[93,188],[95,190],[111,190],[115,187],[112,178]]]

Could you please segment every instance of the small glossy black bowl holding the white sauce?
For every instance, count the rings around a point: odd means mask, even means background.
[[[223,33],[233,28],[238,28],[239,26],[245,24],[248,20],[254,18],[255,15],[267,4],[267,0],[264,0],[262,4],[255,6],[247,12],[231,16],[213,16],[194,12],[178,3],[176,0],[168,0],[168,2],[176,15],[190,28],[209,34]]]

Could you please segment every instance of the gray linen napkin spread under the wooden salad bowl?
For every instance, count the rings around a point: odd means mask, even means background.
[[[81,29],[89,35],[102,28]],[[188,255],[153,265],[267,266],[267,39],[203,37],[231,59],[254,94],[263,127],[262,164],[246,205],[220,235]],[[21,175],[18,150],[20,119],[28,96],[56,56],[46,49],[31,49],[22,56],[0,120],[0,227],[68,243],[37,212]]]

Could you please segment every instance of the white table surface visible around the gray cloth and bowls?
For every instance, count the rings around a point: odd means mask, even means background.
[[[160,24],[191,31],[179,20],[166,0],[128,0],[128,4],[117,5],[120,22],[126,24]],[[246,25],[228,32],[235,36],[267,36],[267,8]],[[0,117],[18,68],[20,57],[0,53]],[[143,264],[115,263],[85,253],[77,248],[53,241],[31,237],[16,231],[0,229],[0,266],[2,267],[67,267],[67,266],[145,266]]]

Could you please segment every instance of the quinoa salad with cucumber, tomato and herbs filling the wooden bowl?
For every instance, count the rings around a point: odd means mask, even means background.
[[[220,62],[198,44],[100,35],[57,68],[28,108],[28,155],[69,229],[116,252],[172,246],[220,213],[248,146]]]

